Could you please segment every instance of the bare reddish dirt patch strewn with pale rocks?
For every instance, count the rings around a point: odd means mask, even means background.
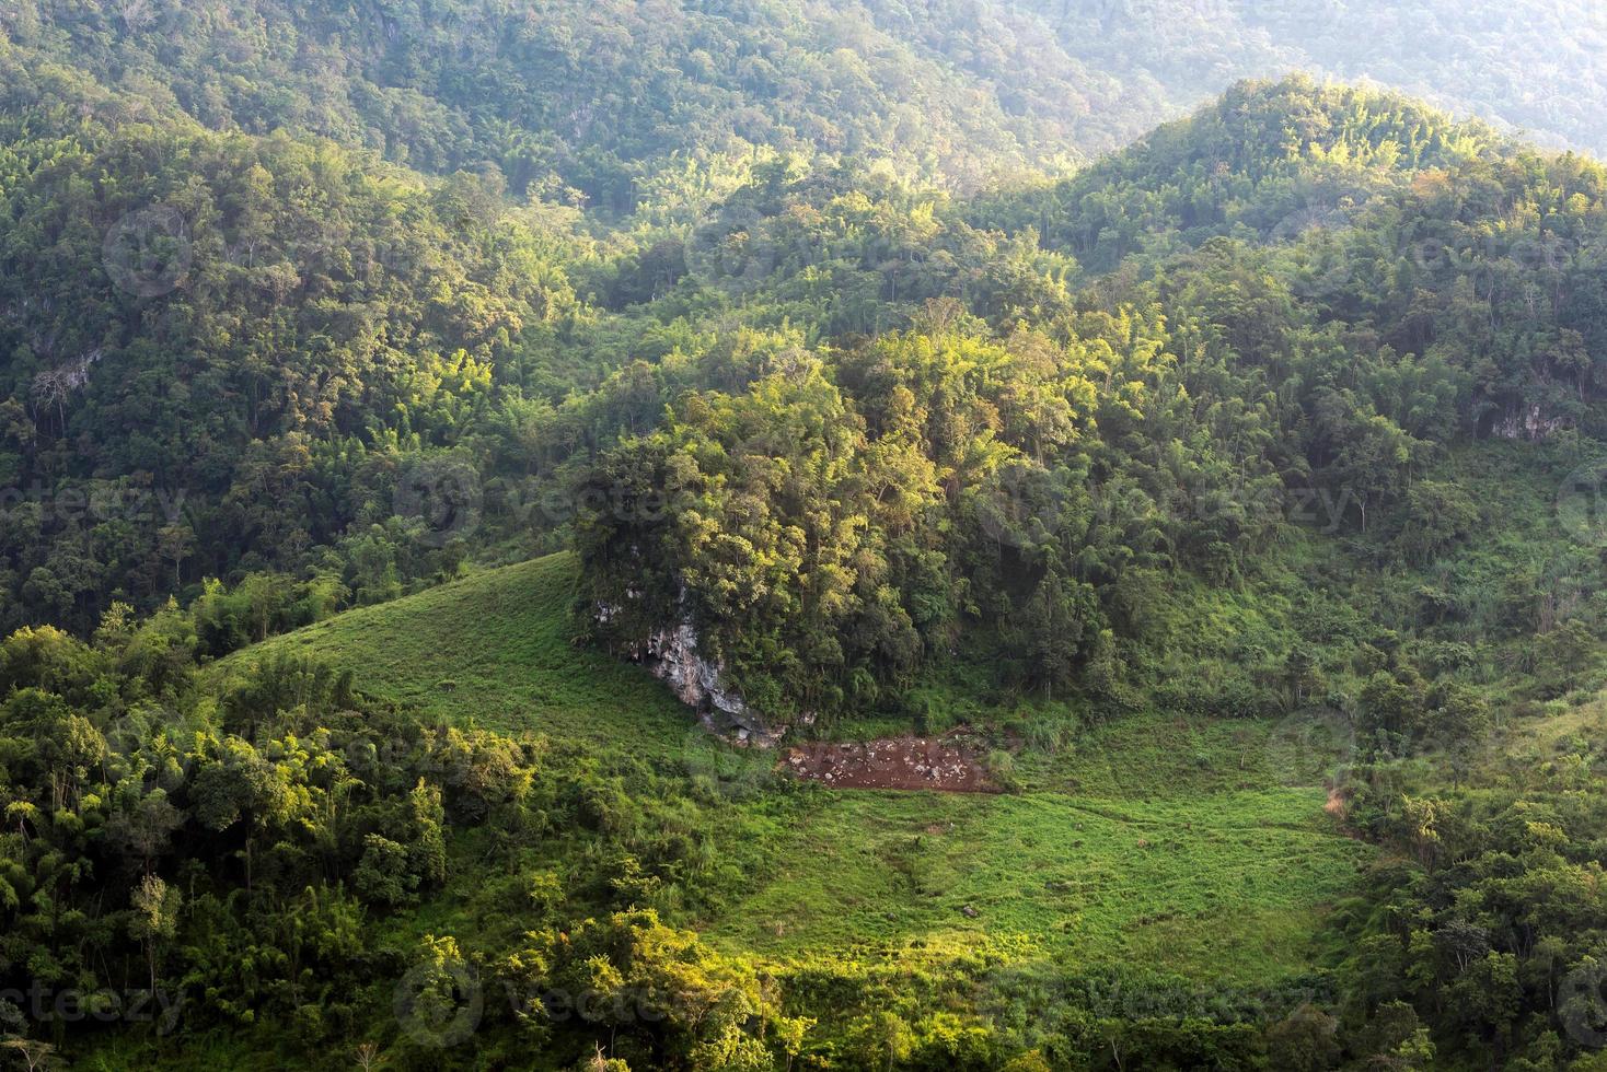
[[[810,741],[781,761],[799,778],[837,790],[998,793],[975,748],[956,733],[832,745]]]

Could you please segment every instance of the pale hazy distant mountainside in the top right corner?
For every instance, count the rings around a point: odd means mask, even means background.
[[[1305,71],[1406,91],[1551,146],[1607,148],[1602,75],[1588,59],[1607,26],[1583,0],[1025,0],[1004,10],[1025,26],[1001,14],[1014,32],[996,40],[1033,48],[1048,37],[1088,79],[1138,103],[1139,127],[1231,80]],[[1141,130],[1122,133],[1125,143]]]

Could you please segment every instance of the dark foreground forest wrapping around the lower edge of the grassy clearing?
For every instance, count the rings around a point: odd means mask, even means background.
[[[985,950],[945,971],[723,953],[665,918],[749,881],[712,849],[731,788],[421,722],[283,653],[214,690],[196,624],[117,608],[88,642],[0,644],[0,1029],[31,1067],[95,1038],[85,1067],[185,1064],[219,1038],[251,1067],[601,1067],[595,1045],[614,1069],[1599,1067],[1593,756],[1416,794],[1392,733],[1432,705],[1477,722],[1480,701],[1406,666],[1369,680],[1390,698],[1369,695],[1379,745],[1348,782],[1356,828],[1396,849],[1335,923],[1351,955],[1205,992]],[[760,777],[741,793],[807,809]],[[455,937],[440,913],[460,899]],[[400,921],[421,905],[416,934]]]

